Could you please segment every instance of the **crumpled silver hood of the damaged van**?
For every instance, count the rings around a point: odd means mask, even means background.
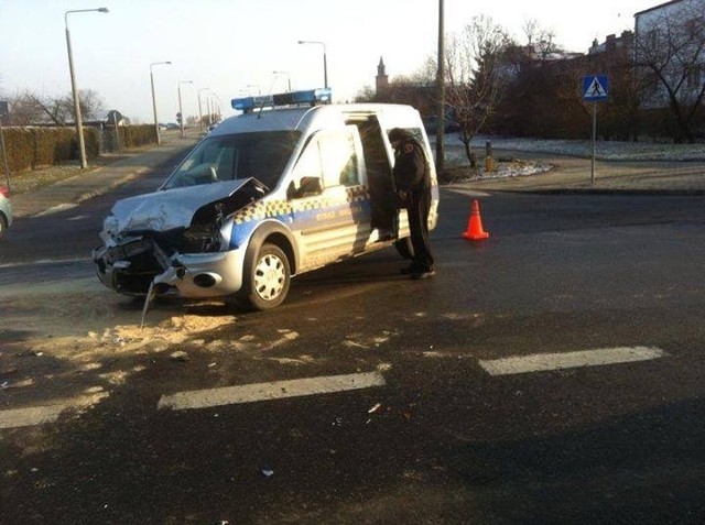
[[[118,219],[120,232],[185,228],[202,206],[234,195],[248,181],[227,181],[138,195],[118,200],[111,211]]]

